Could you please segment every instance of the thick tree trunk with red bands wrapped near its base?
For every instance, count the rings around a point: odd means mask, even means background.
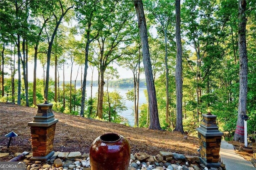
[[[247,100],[247,75],[248,59],[246,49],[246,0],[238,0],[239,24],[238,24],[238,50],[239,50],[239,99],[238,115],[236,122],[236,132],[233,140],[244,141],[244,120],[242,115],[246,115]]]

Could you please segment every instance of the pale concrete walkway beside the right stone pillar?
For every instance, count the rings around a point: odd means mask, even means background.
[[[220,144],[220,157],[226,170],[256,170],[252,162],[236,154],[234,146],[225,140]]]

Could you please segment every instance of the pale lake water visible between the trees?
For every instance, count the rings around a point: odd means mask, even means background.
[[[106,91],[106,87],[104,87],[104,91]],[[122,111],[120,113],[118,113],[118,115],[128,119],[128,123],[130,126],[134,126],[134,101],[129,101],[126,99],[126,93],[129,90],[133,90],[133,87],[126,87],[126,88],[122,88],[122,87],[108,87],[108,91],[112,92],[112,91],[118,91],[120,93],[120,95],[122,95],[122,97],[125,100],[125,105],[127,107],[126,111]],[[146,90],[146,87],[140,87],[139,89],[139,107],[140,105],[142,105],[143,103],[146,103],[146,97],[144,95],[144,90]],[[94,97],[96,95],[96,93],[98,92],[98,87],[97,86],[93,86],[92,87],[92,96]],[[90,87],[86,87],[86,96],[87,98],[90,97]],[[105,95],[105,93],[104,93]]]

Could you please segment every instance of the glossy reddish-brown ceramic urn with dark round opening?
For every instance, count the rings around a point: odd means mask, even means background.
[[[92,170],[128,170],[130,144],[126,138],[116,133],[102,134],[90,147]]]

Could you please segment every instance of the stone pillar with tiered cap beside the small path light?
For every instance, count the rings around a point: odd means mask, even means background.
[[[38,111],[34,120],[28,123],[31,133],[33,157],[31,160],[48,160],[53,154],[53,141],[56,123],[52,105],[48,103],[38,104]]]

